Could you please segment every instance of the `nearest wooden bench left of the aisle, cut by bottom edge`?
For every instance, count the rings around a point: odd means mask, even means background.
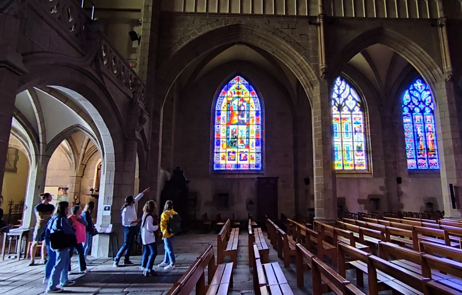
[[[207,268],[207,285],[205,284],[205,269]],[[190,294],[196,288],[196,294],[225,295],[233,286],[233,263],[215,265],[214,248],[210,244],[196,261],[173,284],[167,295]]]

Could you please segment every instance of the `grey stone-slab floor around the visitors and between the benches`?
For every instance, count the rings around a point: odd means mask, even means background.
[[[131,267],[114,268],[111,259],[93,259],[90,257],[91,263],[88,268],[91,269],[87,274],[71,274],[69,279],[76,280],[74,286],[66,287],[61,293],[72,294],[165,294],[172,286],[172,283],[166,281],[177,280],[177,276],[184,273],[191,263],[196,260],[199,253],[205,250],[207,244],[214,244],[216,251],[216,235],[187,233],[175,237],[173,242],[176,254],[176,269],[166,271],[164,269],[155,269],[159,274],[157,281],[152,278],[145,278],[139,270],[141,257],[134,256],[132,261],[135,263]],[[269,241],[267,241],[270,245]],[[241,230],[239,235],[239,254],[238,266],[234,270],[234,288],[230,294],[252,294],[252,271],[248,268],[248,243],[247,234]],[[159,246],[159,255],[155,260],[155,265],[163,260],[164,250]],[[270,246],[270,262],[279,262],[282,266],[282,261],[278,259],[277,253]],[[27,266],[27,260],[5,260],[0,261],[0,294],[23,294],[36,295],[42,294],[45,290],[45,285],[42,285],[43,265]],[[75,256],[72,263],[73,271],[77,271],[77,262]],[[289,284],[291,285],[294,294],[311,294],[310,275],[306,273],[305,280],[307,281],[305,289],[296,287],[295,264],[291,264],[290,268],[283,268]],[[169,276],[169,274],[176,274]]]

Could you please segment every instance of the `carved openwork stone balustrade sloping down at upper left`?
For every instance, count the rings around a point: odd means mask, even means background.
[[[80,3],[76,0],[41,0],[41,6],[45,8],[45,11],[42,9],[38,12],[43,16],[43,19],[49,24],[49,20],[54,19],[55,24],[50,24],[52,27],[56,27],[56,22],[58,22],[57,29],[64,34],[63,37],[66,41],[72,43],[76,49],[83,53],[83,45],[88,38],[86,29],[91,26],[93,21],[80,7]],[[123,88],[131,93],[132,98],[144,103],[146,85],[103,34],[100,34],[99,39],[99,54],[100,61],[104,65],[103,69],[106,69],[106,73],[117,80],[115,81],[116,84],[117,82],[121,83]]]

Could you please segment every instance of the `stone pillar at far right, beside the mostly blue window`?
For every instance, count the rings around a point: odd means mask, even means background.
[[[442,81],[435,85],[435,100],[439,116],[436,117],[438,131],[438,154],[441,174],[441,189],[445,218],[460,219],[460,199],[456,195],[458,204],[452,208],[449,184],[461,186],[462,154],[460,150],[460,134],[457,121],[457,106],[455,102],[454,84]]]

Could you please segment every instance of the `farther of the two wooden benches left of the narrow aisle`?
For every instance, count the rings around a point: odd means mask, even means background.
[[[229,233],[229,234],[228,234]],[[223,263],[225,256],[230,256],[234,262],[234,268],[237,266],[237,248],[239,242],[239,229],[231,229],[230,220],[226,220],[220,233],[217,234],[217,261]]]

